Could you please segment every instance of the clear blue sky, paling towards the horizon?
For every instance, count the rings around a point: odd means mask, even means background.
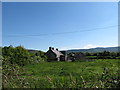
[[[118,45],[117,2],[4,2],[2,46],[47,51]]]

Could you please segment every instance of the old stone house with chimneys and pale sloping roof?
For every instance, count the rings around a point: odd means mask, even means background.
[[[47,56],[47,61],[66,61],[67,55],[66,51],[59,51],[58,49],[54,49],[49,47],[49,50],[45,53]]]

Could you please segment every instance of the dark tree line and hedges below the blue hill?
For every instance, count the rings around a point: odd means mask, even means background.
[[[81,60],[81,59],[120,59],[120,52],[96,52],[96,53],[82,53],[82,52],[71,52],[68,53],[68,57],[74,60]]]

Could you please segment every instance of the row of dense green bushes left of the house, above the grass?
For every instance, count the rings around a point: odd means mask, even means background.
[[[30,53],[22,46],[18,47],[4,47],[2,49],[3,56],[3,65],[4,61],[10,64],[17,64],[19,66],[24,66],[27,64],[35,64],[42,61],[45,61],[47,58],[44,55],[44,52],[38,51],[36,53]]]

